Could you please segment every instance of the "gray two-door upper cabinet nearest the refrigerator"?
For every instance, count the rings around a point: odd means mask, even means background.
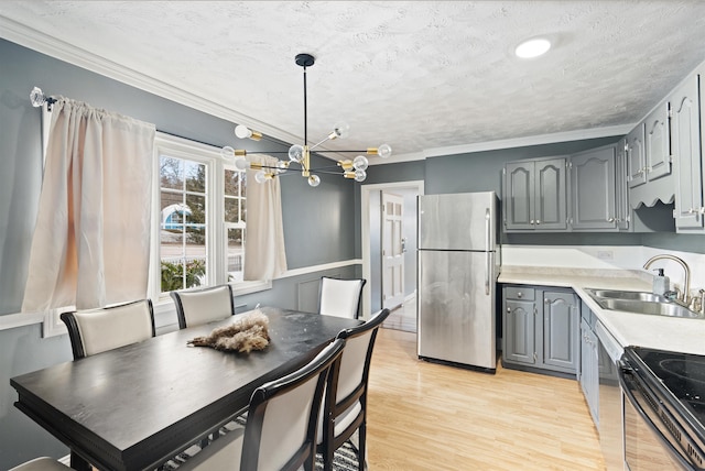
[[[505,166],[505,230],[565,230],[566,160],[541,158]]]

